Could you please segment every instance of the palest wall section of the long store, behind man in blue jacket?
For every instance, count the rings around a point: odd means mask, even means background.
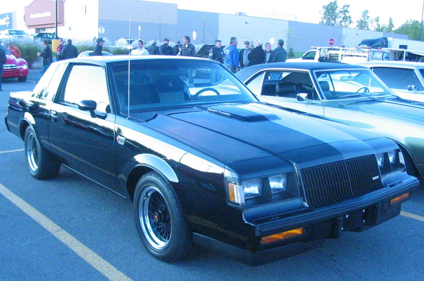
[[[265,45],[274,38],[271,46],[274,49],[278,39],[287,42],[287,30],[287,20],[219,14],[218,39],[223,45],[228,45],[231,37],[237,38],[238,48],[243,48],[245,40],[253,42],[259,39]]]

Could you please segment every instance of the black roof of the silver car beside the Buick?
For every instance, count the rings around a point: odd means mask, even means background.
[[[295,70],[334,70],[334,69],[368,69],[368,67],[363,67],[354,64],[343,64],[335,62],[273,62],[269,64],[256,64],[250,67],[246,67],[239,72],[236,72],[236,76],[242,81],[246,81],[251,75],[260,70],[265,69],[295,69]]]

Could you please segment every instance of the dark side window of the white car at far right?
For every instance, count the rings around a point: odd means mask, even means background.
[[[412,69],[374,67],[373,71],[389,88],[406,90],[408,85],[415,85],[417,90],[423,89]]]

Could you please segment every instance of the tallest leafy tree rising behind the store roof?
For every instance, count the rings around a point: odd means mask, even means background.
[[[349,27],[352,24],[352,19],[349,15],[349,5],[343,5],[339,9],[337,0],[322,6],[322,10],[319,13],[322,15],[321,22],[319,22],[322,25]]]

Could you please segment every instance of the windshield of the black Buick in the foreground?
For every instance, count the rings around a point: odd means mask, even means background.
[[[129,111],[208,103],[258,102],[232,73],[209,61],[131,61]],[[194,75],[195,73],[195,75]],[[128,63],[112,67],[118,110],[128,112]]]

